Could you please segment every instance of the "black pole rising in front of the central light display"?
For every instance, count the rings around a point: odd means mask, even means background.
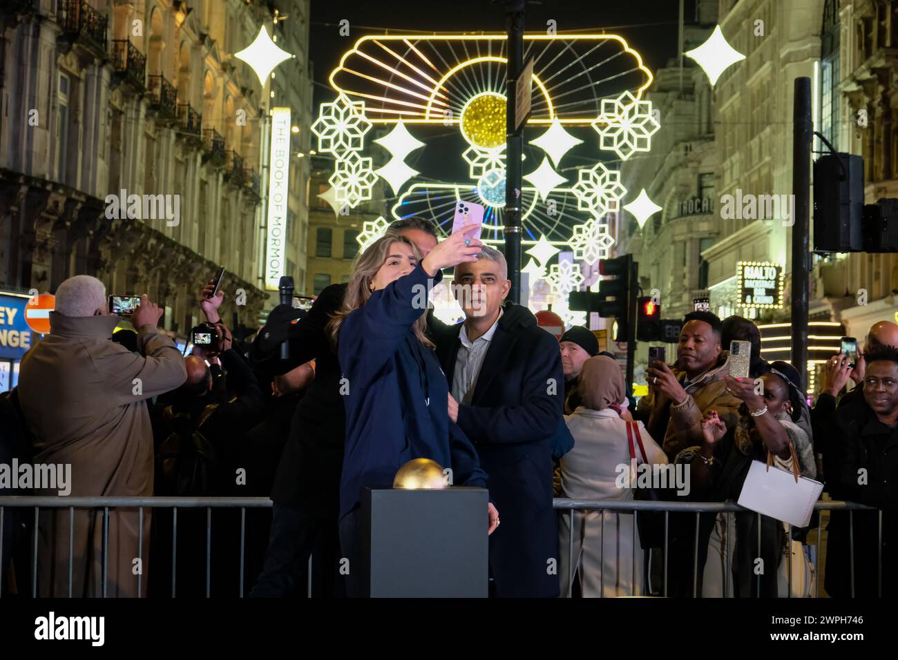
[[[521,155],[524,150],[524,125],[515,131],[515,82],[524,67],[525,0],[506,0],[508,28],[508,69],[506,73],[506,207],[505,218],[509,299],[521,303]]]

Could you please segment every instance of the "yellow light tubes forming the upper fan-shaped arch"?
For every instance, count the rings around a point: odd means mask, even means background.
[[[428,35],[422,36],[420,34],[367,35],[367,36],[361,37],[359,40],[357,40],[356,44],[353,46],[353,48],[348,50],[346,53],[343,54],[342,57],[340,57],[339,65],[330,72],[330,75],[328,76],[328,81],[330,82],[331,88],[333,88],[333,90],[335,92],[346,93],[346,94],[348,94],[348,96],[358,96],[359,94],[357,92],[345,90],[342,87],[340,87],[338,84],[336,84],[334,79],[335,79],[335,76],[340,71],[348,71],[348,69],[346,69],[344,67],[344,64],[346,63],[347,59],[349,57],[352,57],[354,54],[356,54],[360,57],[365,57],[366,59],[369,59],[369,60],[371,59],[371,57],[366,56],[364,53],[362,53],[361,50],[359,50],[359,48],[362,47],[362,45],[365,43],[365,41],[369,41],[369,40],[374,41],[376,43],[376,45],[379,46],[380,48],[382,48],[383,50],[389,50],[388,48],[386,48],[384,46],[384,43],[389,43],[390,41],[402,41],[404,43],[404,45],[409,47],[416,55],[418,55],[418,57],[420,57],[421,60],[427,64],[427,66],[430,66],[431,68],[434,69],[434,71],[436,71],[438,73],[440,69],[437,66],[435,66],[433,64],[433,62],[431,62],[420,51],[420,49],[417,48],[411,42],[412,40],[414,40],[416,42],[417,41],[431,41],[431,40],[432,41],[448,41],[448,40],[504,41],[504,40],[507,40],[507,38],[508,37],[505,33],[462,34],[462,33],[457,33],[457,32],[449,32],[449,33],[445,33],[445,34],[429,35],[429,36]],[[645,82],[640,87],[638,87],[638,89],[635,92],[633,92],[633,95],[637,99],[642,98],[643,93],[648,89],[648,87],[651,86],[652,81],[654,79],[651,71],[649,71],[648,68],[643,64],[642,56],[639,55],[639,53],[636,50],[634,50],[633,48],[630,48],[627,41],[624,40],[619,35],[616,35],[616,34],[563,34],[563,33],[554,34],[554,35],[543,34],[543,33],[524,34],[524,42],[548,41],[548,40],[584,40],[584,41],[614,40],[614,41],[619,42],[621,44],[621,48],[622,48],[621,52],[629,54],[631,57],[633,57],[636,60],[637,66],[634,68],[634,70],[638,70],[639,72],[641,72],[646,79]],[[390,51],[390,52],[392,52],[392,51]],[[394,57],[397,57],[395,53],[392,53],[392,54]],[[449,77],[454,75],[456,72],[458,72],[465,66],[471,66],[471,64],[476,64],[479,62],[488,62],[488,61],[489,62],[497,62],[500,64],[507,64],[507,60],[505,57],[472,57],[456,66],[453,66],[452,69],[450,69],[449,73],[445,74],[443,76],[443,78],[440,80],[439,84],[437,84],[436,87],[432,90],[431,97],[434,98],[436,96],[442,96],[443,98],[446,98],[445,95],[440,90],[441,90],[443,84],[445,84],[445,81]],[[391,71],[392,73],[394,73],[396,75],[400,75],[400,77],[405,78],[411,84],[415,84],[418,87],[423,86],[418,81],[412,80],[411,78],[409,78],[408,75],[403,74],[402,72],[398,71],[397,69],[393,68],[392,66],[386,66],[386,65],[383,65],[383,63],[377,63],[377,64],[378,64],[378,66],[382,66],[383,68]],[[415,70],[418,71],[418,69],[415,69]],[[423,75],[423,73],[422,73],[422,75]],[[429,78],[429,76],[425,76],[425,79],[427,79],[427,78]],[[546,89],[545,84],[542,83],[539,76],[536,74],[533,75],[533,84],[535,84],[540,89],[542,95],[545,97],[546,104],[547,104],[547,116],[546,117],[532,117],[531,119],[528,120],[527,123],[528,123],[528,125],[531,125],[531,126],[538,126],[538,125],[548,126],[555,119],[555,110],[553,108],[553,104],[552,104],[552,101],[550,98],[549,91]],[[392,101],[393,100],[391,99],[391,102]],[[369,109],[369,111],[374,111],[374,108]],[[378,110],[378,111],[387,113],[386,110]],[[393,112],[392,114],[405,114],[405,113]],[[445,117],[441,112],[439,112],[439,111],[432,112],[431,110],[427,111],[424,118],[415,119],[415,118],[403,117],[401,119],[403,121],[405,121],[407,124],[409,124],[409,123],[443,124],[445,121]],[[594,117],[559,118],[559,122],[562,124],[570,124],[573,126],[588,126],[590,124],[590,122],[592,122],[594,119],[595,119]],[[372,118],[370,120],[376,124],[394,124],[397,121],[399,121],[400,118],[383,117],[383,118]],[[458,119],[452,119],[452,121],[453,121],[453,123],[457,123]]]

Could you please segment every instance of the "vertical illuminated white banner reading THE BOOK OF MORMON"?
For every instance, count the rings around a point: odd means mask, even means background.
[[[286,209],[290,178],[290,109],[271,114],[269,217],[266,224],[265,288],[277,290],[286,263]]]

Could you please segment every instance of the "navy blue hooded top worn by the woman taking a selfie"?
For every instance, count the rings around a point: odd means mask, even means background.
[[[340,324],[337,353],[348,388],[340,518],[358,505],[362,487],[391,488],[396,471],[415,458],[451,468],[454,485],[486,487],[471,441],[449,421],[445,374],[412,329],[442,277],[418,265]]]

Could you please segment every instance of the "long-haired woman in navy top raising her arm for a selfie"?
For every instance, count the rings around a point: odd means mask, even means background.
[[[427,296],[441,269],[476,261],[481,245],[453,233],[422,260],[415,243],[388,233],[357,260],[343,308],[330,321],[346,404],[339,532],[350,565],[360,557],[361,489],[391,488],[406,462],[428,458],[450,469],[455,485],[486,486],[473,445],[449,420],[449,386],[425,334]],[[497,524],[489,505],[490,533]]]

